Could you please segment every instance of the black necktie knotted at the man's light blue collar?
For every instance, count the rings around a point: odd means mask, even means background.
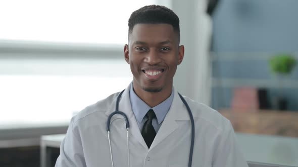
[[[152,109],[150,109],[147,114],[146,114],[148,120],[145,122],[143,128],[142,128],[142,136],[148,146],[148,148],[150,148],[153,140],[154,140],[154,137],[156,135],[156,132],[155,132],[155,129],[152,125],[152,120],[153,118],[156,117],[154,111]]]

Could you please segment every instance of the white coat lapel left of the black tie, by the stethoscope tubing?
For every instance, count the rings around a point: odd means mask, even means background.
[[[126,114],[126,116],[128,117],[129,120],[129,132],[130,134],[145,148],[148,148],[143,136],[141,135],[140,129],[138,127],[138,124],[136,122],[135,116],[132,112],[131,109],[131,104],[130,104],[130,97],[129,97],[129,91],[130,91],[130,85],[126,88],[126,90],[123,92],[120,102],[119,102],[119,111],[122,111],[123,113]],[[111,107],[109,109],[109,111],[106,112],[106,115],[110,115],[111,113],[113,113],[116,109],[116,99],[113,101],[113,103],[111,104]],[[117,118],[122,118],[121,115],[116,114],[113,116],[113,119],[117,119]],[[112,122],[112,121],[111,121]],[[132,137],[130,136],[130,137]]]

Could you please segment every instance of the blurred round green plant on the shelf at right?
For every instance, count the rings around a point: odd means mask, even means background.
[[[277,54],[269,60],[270,69],[276,74],[289,74],[296,65],[295,58],[290,54]]]

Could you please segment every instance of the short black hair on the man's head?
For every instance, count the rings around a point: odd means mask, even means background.
[[[180,37],[178,16],[164,6],[150,5],[134,11],[128,20],[128,34],[136,24],[170,24]]]

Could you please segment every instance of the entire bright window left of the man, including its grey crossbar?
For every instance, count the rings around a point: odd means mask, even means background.
[[[125,89],[132,80],[123,57],[128,18],[155,3],[0,2],[0,128],[69,122]]]

